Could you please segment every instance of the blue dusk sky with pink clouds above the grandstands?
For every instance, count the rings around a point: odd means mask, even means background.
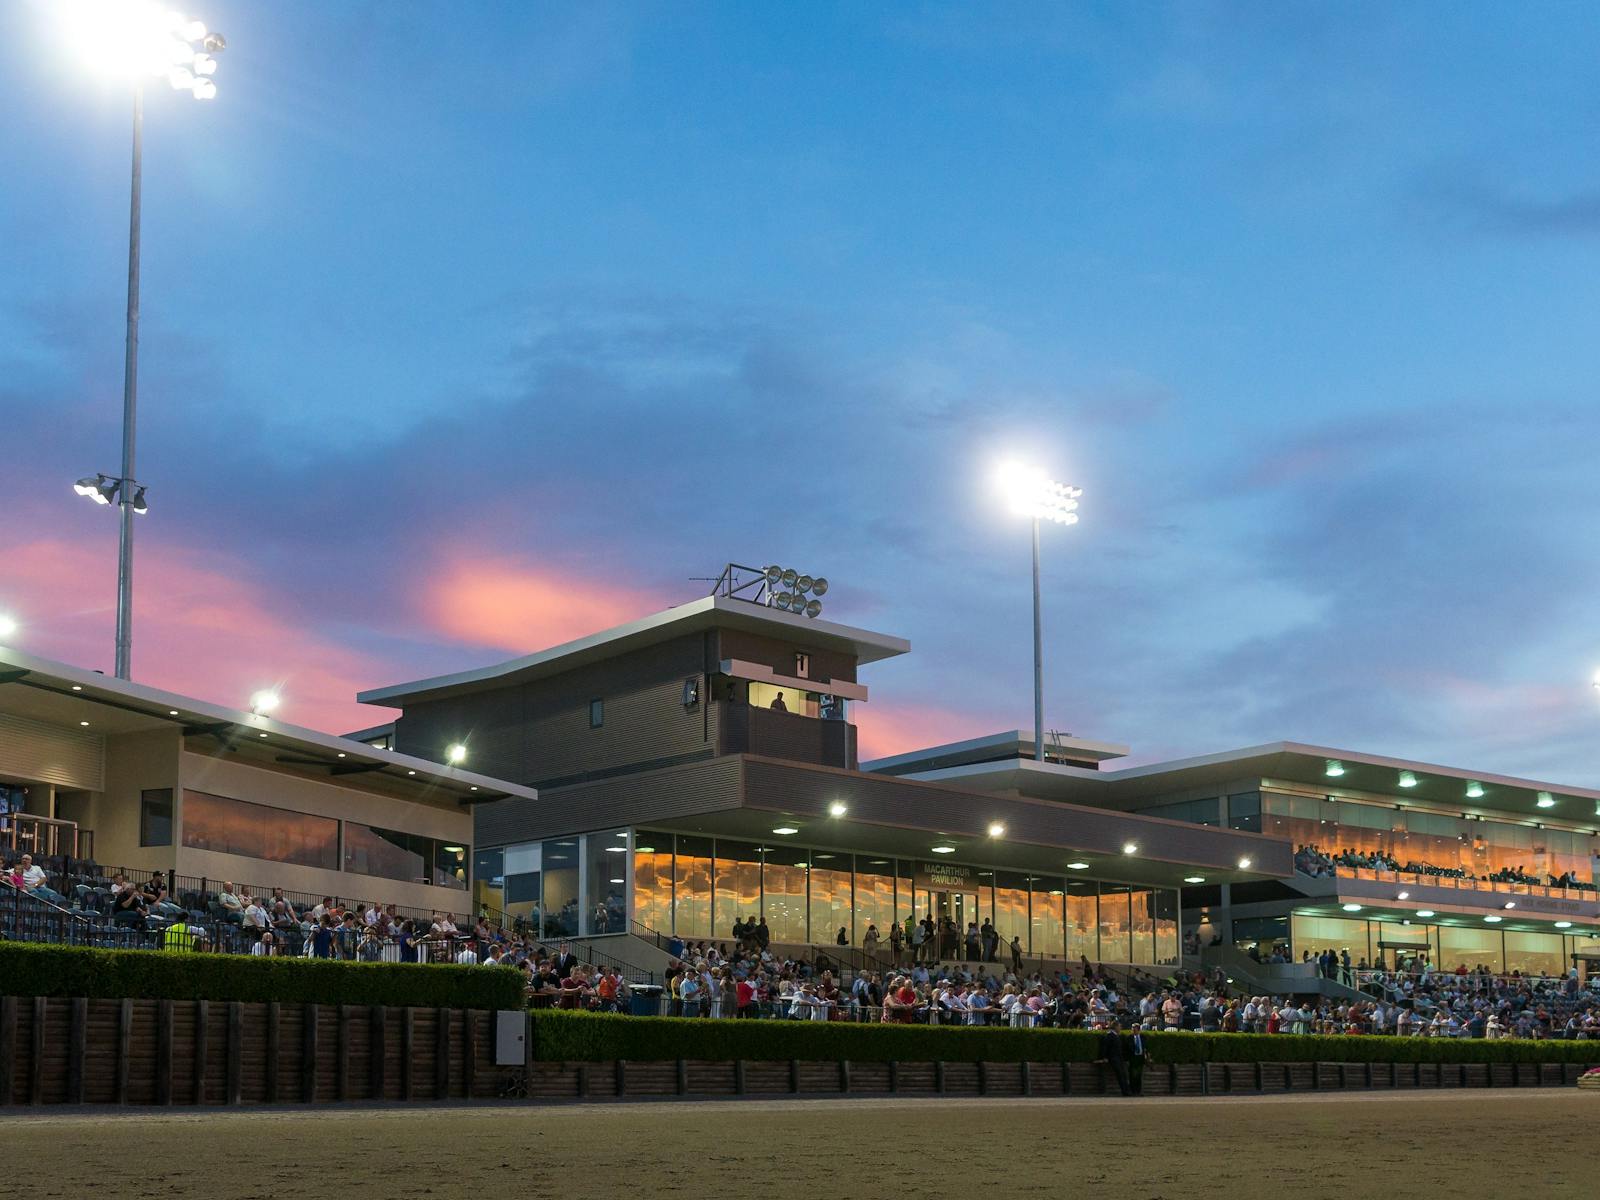
[[[128,96],[0,10],[0,610],[109,666]],[[134,674],[350,693],[691,598],[1046,722],[1600,784],[1600,10],[208,3],[146,122]]]

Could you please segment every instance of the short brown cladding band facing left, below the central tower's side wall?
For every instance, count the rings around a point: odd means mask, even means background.
[[[478,805],[474,842],[480,848],[504,846],[738,808],[741,763],[741,758],[710,758],[541,792],[538,800]]]

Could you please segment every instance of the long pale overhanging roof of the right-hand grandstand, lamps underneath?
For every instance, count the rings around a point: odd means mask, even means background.
[[[1338,762],[1344,773],[1330,776],[1330,762]],[[1402,771],[1410,771],[1416,778],[1413,787],[1400,787]],[[982,792],[1016,792],[1106,808],[1134,808],[1155,797],[1250,782],[1318,795],[1376,797],[1474,816],[1512,814],[1582,829],[1600,824],[1597,822],[1600,792],[1587,787],[1302,742],[1269,742],[1114,771],[1011,758],[920,771],[912,778]],[[1469,798],[1466,794],[1469,784],[1480,784],[1483,795]],[[1547,794],[1555,803],[1541,808],[1541,794]]]

